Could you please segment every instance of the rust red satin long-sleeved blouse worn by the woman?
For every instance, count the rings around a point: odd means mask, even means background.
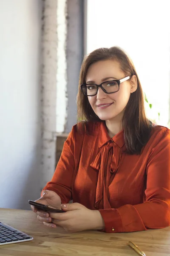
[[[125,153],[124,132],[109,137],[105,123],[73,127],[52,180],[62,203],[98,209],[105,232],[130,232],[170,225],[170,130],[155,126],[140,155]],[[43,190],[44,190],[43,189]]]

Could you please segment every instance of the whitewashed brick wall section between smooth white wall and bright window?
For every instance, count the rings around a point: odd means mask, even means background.
[[[84,17],[83,0],[42,1],[41,188],[51,180],[63,142],[76,123]]]

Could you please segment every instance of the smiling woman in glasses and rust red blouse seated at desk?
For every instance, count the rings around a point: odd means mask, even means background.
[[[73,127],[37,200],[65,212],[32,207],[38,219],[108,233],[170,225],[170,130],[147,119],[139,78],[122,49],[96,49],[84,59],[77,106],[85,121]]]

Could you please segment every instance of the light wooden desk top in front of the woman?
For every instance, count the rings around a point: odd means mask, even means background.
[[[170,255],[170,227],[132,233],[67,233],[59,227],[45,227],[32,211],[14,209],[0,209],[0,221],[34,237],[32,241],[0,246],[0,256],[137,256],[127,246],[129,240],[146,256]]]

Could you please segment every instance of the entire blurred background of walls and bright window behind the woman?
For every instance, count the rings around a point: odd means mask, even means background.
[[[0,207],[30,209],[77,122],[84,55],[122,47],[169,127],[169,0],[0,0]]]

